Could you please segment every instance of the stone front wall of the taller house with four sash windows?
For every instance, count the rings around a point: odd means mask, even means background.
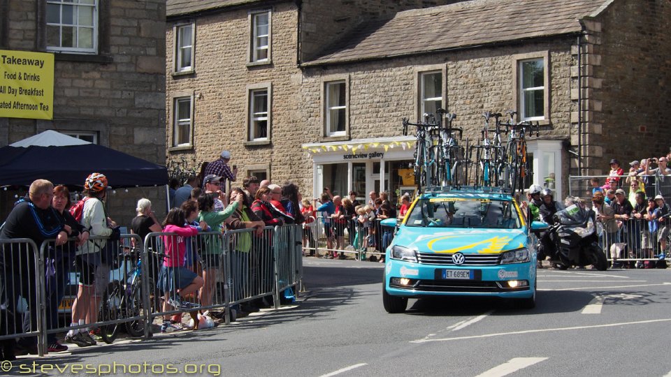
[[[237,184],[245,172],[269,168],[273,182],[292,180],[303,186],[300,171],[305,166],[301,154],[303,119],[299,112],[298,88],[301,72],[296,66],[298,9],[294,3],[273,6],[271,22],[271,63],[247,66],[250,40],[248,13],[258,8],[231,10],[201,16],[196,20],[195,73],[171,75],[173,52],[168,53],[166,106],[168,119],[173,111],[171,94],[194,93],[194,147],[168,151],[168,160],[213,161],[223,149],[231,151],[231,165],[238,165]],[[178,22],[184,22],[180,20]],[[173,46],[173,23],[166,27],[166,45]],[[172,48],[172,47],[171,47]],[[267,145],[245,145],[247,142],[247,87],[270,83],[272,98],[271,140]],[[167,138],[172,132],[167,125]],[[166,139],[166,142],[169,140]],[[311,167],[310,167],[311,169]]]

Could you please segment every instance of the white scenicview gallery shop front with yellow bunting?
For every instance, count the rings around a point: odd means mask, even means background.
[[[414,194],[414,141],[401,137],[305,144],[312,158],[312,192],[328,187],[333,195],[347,196],[355,191],[360,202],[367,202],[370,191],[387,191],[396,203],[403,193]]]

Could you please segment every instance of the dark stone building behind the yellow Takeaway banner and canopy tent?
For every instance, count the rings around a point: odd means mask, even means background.
[[[164,165],[165,17],[161,0],[1,0],[0,50],[52,52],[55,67],[53,119],[0,117],[0,146],[55,130]],[[142,196],[165,213],[164,188],[132,188],[110,216],[129,224]]]

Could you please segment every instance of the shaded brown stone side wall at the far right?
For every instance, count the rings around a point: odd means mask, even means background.
[[[622,168],[640,158],[667,154],[671,142],[671,3],[614,1],[593,22],[587,42],[593,52],[586,69],[593,174],[607,174],[618,158]]]

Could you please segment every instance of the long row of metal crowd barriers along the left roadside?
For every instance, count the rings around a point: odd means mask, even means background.
[[[122,328],[149,337],[161,316],[221,310],[228,324],[231,307],[262,297],[273,297],[277,309],[280,291],[301,283],[301,238],[301,226],[292,225],[258,236],[254,229],[154,232],[144,242],[92,236],[80,246],[50,239],[39,248],[30,239],[0,239],[0,293],[8,297],[0,300],[0,341],[19,339],[44,355],[68,330],[92,330],[111,343]],[[183,258],[180,242],[188,245]],[[166,260],[185,266],[168,275]]]

